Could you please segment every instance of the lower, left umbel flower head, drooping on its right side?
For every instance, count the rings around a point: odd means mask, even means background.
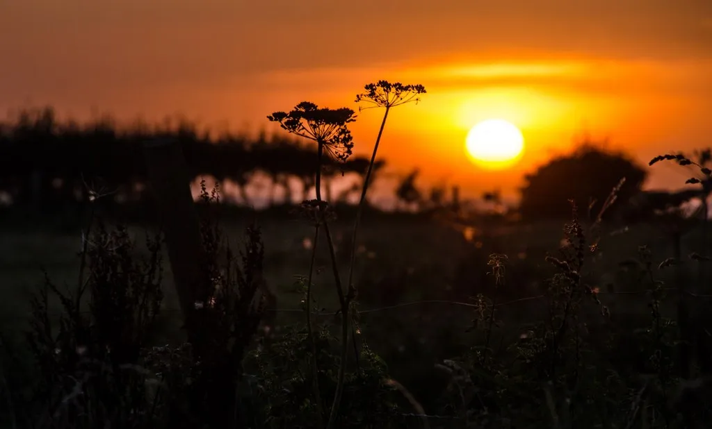
[[[291,112],[274,112],[267,116],[291,134],[313,140],[334,158],[346,161],[354,147],[347,124],[356,120],[355,112],[346,107],[328,109],[301,102]]]

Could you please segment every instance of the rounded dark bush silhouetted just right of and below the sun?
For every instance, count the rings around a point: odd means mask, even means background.
[[[586,143],[574,153],[553,158],[534,173],[525,175],[520,189],[520,214],[524,219],[561,218],[571,215],[569,200],[575,200],[580,216],[598,215],[606,198],[619,181],[617,208],[640,192],[646,170],[622,153],[604,151]],[[592,204],[593,202],[593,204]]]

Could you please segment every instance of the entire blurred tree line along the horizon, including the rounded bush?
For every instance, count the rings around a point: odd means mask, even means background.
[[[142,145],[156,139],[178,141],[183,149],[189,178],[215,178],[229,181],[236,188],[240,203],[251,205],[247,188],[258,175],[269,178],[265,192],[270,205],[308,200],[315,188],[316,167],[313,145],[288,136],[261,132],[258,136],[220,133],[187,119],[146,124],[136,121],[121,126],[110,116],[80,123],[60,120],[51,107],[23,109],[14,118],[0,121],[0,205],[11,204],[27,210],[45,212],[61,209],[92,197],[91,191],[112,194],[111,203],[140,202],[147,192],[146,165]],[[703,164],[709,163],[710,151],[696,153]],[[330,202],[347,202],[362,189],[369,160],[351,156],[342,163],[325,161],[323,190]],[[385,161],[375,165],[375,175],[382,175]],[[682,192],[642,192],[647,176],[642,165],[624,153],[614,153],[584,142],[572,153],[552,158],[525,175],[520,188],[517,212],[526,219],[567,217],[569,200],[597,212],[609,192],[622,178],[618,190],[618,209],[639,212],[664,210],[681,202],[709,195],[712,185],[703,180],[703,190]],[[349,175],[352,185],[333,195],[332,182]],[[394,188],[397,207],[405,210],[431,210],[458,207],[458,188],[436,186],[425,190],[417,184],[419,170],[400,178]],[[98,185],[100,183],[100,185]],[[298,183],[297,190],[290,183]],[[283,199],[276,190],[283,190]],[[295,195],[296,194],[296,195]],[[702,195],[701,195],[702,194]],[[485,202],[497,201],[497,192],[485,192]],[[628,201],[636,207],[627,207]],[[678,201],[681,200],[681,201]],[[633,215],[638,217],[638,215]]]

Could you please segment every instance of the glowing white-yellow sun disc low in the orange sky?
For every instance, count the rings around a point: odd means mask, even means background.
[[[465,139],[473,161],[488,168],[503,168],[517,161],[524,149],[524,137],[511,122],[487,119],[473,126]]]

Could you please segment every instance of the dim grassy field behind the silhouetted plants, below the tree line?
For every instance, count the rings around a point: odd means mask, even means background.
[[[241,246],[248,221],[257,219],[266,249],[266,279],[277,296],[276,329],[303,322],[299,310],[303,295],[295,287],[305,276],[310,261],[313,229],[303,220],[284,215],[244,215],[223,219],[221,225],[231,244]],[[493,335],[502,344],[516,342],[530,325],[546,316],[545,281],[555,270],[545,256],[557,256],[562,246],[564,222],[540,224],[492,224],[473,231],[436,222],[417,215],[372,215],[362,229],[356,281],[360,285],[360,337],[389,366],[389,374],[402,383],[426,412],[439,406],[448,384],[436,368],[444,359],[463,356],[472,347],[468,332],[476,319],[473,300],[478,293],[497,298]],[[337,256],[342,276],[347,271],[350,222],[333,224]],[[142,242],[145,228],[130,227],[130,234]],[[682,254],[695,249],[696,232],[684,237]],[[673,256],[669,234],[659,225],[641,224],[628,229],[604,227],[600,248],[587,257],[582,271],[585,281],[597,288],[601,306],[587,307],[583,317],[590,331],[619,327],[632,330],[649,323],[649,298],[639,271],[631,269],[639,246],[652,251],[656,273],[664,280],[671,271],[658,269],[661,261]],[[43,281],[43,271],[58,284],[75,285],[78,276],[80,233],[48,227],[5,227],[0,234],[0,313],[4,332],[26,329],[28,294]],[[326,246],[320,243],[317,257],[315,295],[325,315],[320,322],[330,325],[338,309],[333,280],[328,270]],[[145,250],[144,250],[145,251]],[[165,252],[164,252],[165,253]],[[503,284],[495,288],[488,266],[489,255],[506,254]],[[686,262],[684,275],[698,275],[696,265]],[[155,343],[179,344],[184,340],[172,288],[172,275],[164,254],[166,298],[155,332]],[[674,284],[674,283],[670,283]],[[600,315],[602,306],[610,315]],[[56,308],[59,311],[59,308]],[[666,317],[674,317],[675,301],[661,305]],[[626,359],[621,357],[620,359]]]

